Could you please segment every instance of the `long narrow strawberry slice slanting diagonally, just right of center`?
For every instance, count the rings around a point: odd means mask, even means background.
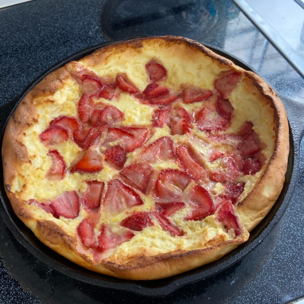
[[[180,145],[176,148],[176,155],[180,166],[189,176],[191,176],[191,178],[202,180],[207,177],[206,171],[191,158],[184,145]]]

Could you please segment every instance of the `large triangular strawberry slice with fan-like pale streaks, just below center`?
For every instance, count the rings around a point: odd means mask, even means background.
[[[119,179],[112,179],[102,203],[105,210],[115,213],[134,206],[142,205],[140,196],[129,186],[122,183]]]

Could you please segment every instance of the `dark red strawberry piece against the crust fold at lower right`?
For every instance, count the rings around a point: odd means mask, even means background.
[[[235,236],[241,234],[241,227],[238,218],[234,214],[234,209],[229,201],[224,201],[217,209],[216,219],[225,225],[227,231],[233,229]]]

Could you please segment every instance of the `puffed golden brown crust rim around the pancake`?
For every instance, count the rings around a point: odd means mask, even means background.
[[[118,56],[120,53],[125,52],[126,49],[131,49],[133,52],[141,52],[141,48],[145,42],[163,46],[171,46],[173,44],[185,45],[191,50],[194,49],[204,53],[225,70],[235,69],[241,71],[245,77],[252,81],[253,85],[269,101],[269,104],[273,108],[276,123],[276,142],[273,157],[252,191],[236,209],[245,228],[251,231],[272,208],[284,182],[289,151],[289,130],[286,111],[281,100],[276,96],[272,88],[256,74],[245,71],[235,66],[232,61],[215,54],[199,43],[182,37],[153,37],[115,43],[95,51],[84,58],[83,61],[92,66],[100,62],[106,64],[109,54],[113,50],[115,50]],[[27,148],[22,143],[22,137],[26,128],[37,122],[37,112],[33,99],[54,94],[60,88],[62,81],[67,77],[70,77],[67,68],[62,67],[49,74],[36,85],[18,105],[9,120],[4,135],[2,155],[6,191],[15,213],[30,227],[37,238],[59,254],[82,267],[102,274],[132,280],[165,278],[194,269],[222,257],[248,239],[249,234],[243,229],[241,238],[220,241],[217,236],[207,242],[205,248],[198,250],[173,251],[154,256],[142,256],[125,264],[103,259],[99,264],[93,265],[90,259],[78,250],[76,237],[68,235],[58,224],[51,220],[36,220],[26,203],[20,200],[15,193],[12,193],[10,187],[18,172],[18,168],[22,164],[30,162]]]

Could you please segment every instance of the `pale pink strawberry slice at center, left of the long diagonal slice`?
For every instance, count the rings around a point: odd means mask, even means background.
[[[149,163],[174,159],[172,138],[168,136],[160,137],[144,148],[141,157]]]

